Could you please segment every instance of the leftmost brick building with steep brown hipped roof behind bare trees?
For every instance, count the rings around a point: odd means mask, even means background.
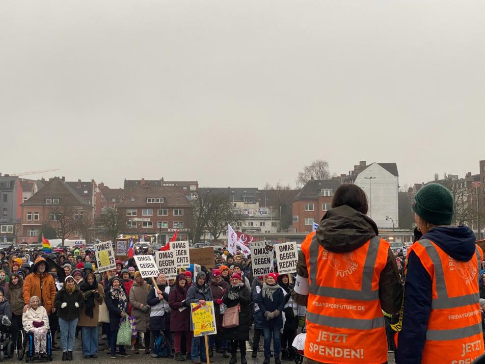
[[[93,206],[86,200],[80,197],[62,178],[50,178],[44,187],[21,204],[19,238],[33,243],[38,241],[43,224],[50,224],[56,228],[56,216],[53,211],[59,209],[60,206],[68,206],[72,209],[76,220],[90,216]],[[82,239],[80,230],[72,231],[67,239]]]

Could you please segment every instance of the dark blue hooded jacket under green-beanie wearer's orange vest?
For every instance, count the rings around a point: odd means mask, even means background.
[[[475,235],[467,226],[435,227],[421,239],[429,239],[461,262],[475,255]],[[431,313],[432,280],[414,252],[408,255],[404,289],[402,330],[398,336],[398,364],[420,364]]]

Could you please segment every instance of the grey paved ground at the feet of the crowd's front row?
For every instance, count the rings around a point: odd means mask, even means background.
[[[251,334],[252,336],[252,334]],[[59,342],[59,340],[58,340]],[[143,363],[159,363],[161,361],[163,361],[164,363],[168,363],[168,364],[176,364],[176,363],[179,363],[179,361],[176,361],[176,360],[173,360],[173,359],[170,359],[170,358],[152,358],[150,357],[150,355],[148,354],[145,354],[144,351],[140,351],[140,354],[139,355],[134,355],[133,354],[133,351],[132,350],[127,350],[127,353],[130,354],[130,357],[129,358],[124,358],[124,357],[117,357],[116,359],[111,359],[110,358],[110,355],[109,353],[107,353],[106,351],[104,351],[104,349],[106,348],[106,345],[105,345],[105,340],[100,340],[100,345],[99,345],[99,352],[98,352],[98,358],[97,359],[85,359],[83,357],[83,353],[81,351],[81,347],[80,347],[80,339],[77,339],[76,340],[76,345],[74,346],[74,352],[73,352],[73,360],[72,360],[72,363],[73,364],[77,364],[77,363],[86,363],[86,362],[96,362],[96,363],[116,363],[116,362],[125,362],[126,364],[128,363],[131,363],[131,362],[143,362]],[[262,344],[262,343],[261,343]],[[263,362],[263,352],[260,351],[258,352],[258,357],[256,359],[253,359],[251,358],[251,348],[249,346],[249,343],[247,343],[247,350],[248,350],[248,355],[247,355],[247,359],[248,359],[248,364],[262,364]],[[261,350],[262,350],[262,347],[261,347]],[[60,350],[55,350],[53,351],[53,361],[62,361],[61,360],[62,358],[62,352]],[[240,364],[240,355],[238,354],[237,355],[237,362]],[[23,359],[25,360],[25,358]],[[394,364],[394,354],[393,353],[389,353],[388,354],[388,364]],[[5,358],[4,359],[4,362],[19,362],[19,360],[17,359],[17,357],[14,355],[13,358]],[[36,362],[41,362],[40,360],[36,360]],[[47,360],[48,362],[48,360]],[[212,357],[210,359],[210,362],[213,363],[213,364],[226,364],[229,362],[229,359],[225,359],[222,357],[222,354],[218,354],[218,353],[215,353],[214,352],[214,357]],[[189,360],[185,360],[185,363],[190,363]],[[270,361],[271,364],[274,363],[274,360],[273,358],[271,359]],[[283,364],[287,363],[287,364],[294,364],[294,362],[292,361],[282,361]],[[202,363],[203,364],[203,363]]]

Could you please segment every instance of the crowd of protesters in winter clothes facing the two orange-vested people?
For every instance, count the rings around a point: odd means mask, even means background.
[[[170,280],[159,273],[155,288],[151,279],[142,278],[133,258],[117,260],[116,270],[99,273],[93,250],[56,250],[50,254],[0,250],[0,320],[8,318],[14,342],[22,327],[31,331],[40,358],[47,357],[50,330],[52,349],[62,350],[62,360],[73,359],[75,342],[80,340],[86,359],[97,358],[98,348],[106,347],[103,354],[111,358],[149,354],[198,364],[207,360],[205,342],[193,335],[190,309],[185,308],[207,301],[213,301],[217,326],[217,334],[208,337],[209,358],[215,352],[234,364],[239,352],[245,364],[246,343],[255,358],[261,336],[264,364],[271,356],[277,364],[295,358],[291,344],[303,326],[306,308],[291,299],[293,277],[278,273],[253,277],[251,256],[214,250],[214,268],[201,267],[194,277],[191,264]],[[136,254],[154,252],[149,247]],[[225,328],[224,312],[231,307],[237,307],[238,325]],[[136,322],[136,340],[120,346],[118,330],[126,317]],[[169,350],[160,350],[160,342]]]

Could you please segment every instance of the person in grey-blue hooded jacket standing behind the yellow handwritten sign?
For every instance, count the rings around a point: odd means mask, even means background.
[[[199,272],[197,274],[194,284],[187,291],[187,305],[190,307],[191,303],[198,303],[202,306],[205,305],[206,301],[212,301],[212,291],[209,285],[206,283],[206,276],[204,272]],[[194,325],[192,323],[191,316],[191,330],[194,330]],[[191,357],[194,364],[200,364],[201,359],[206,361],[205,357],[205,343],[204,337],[198,336],[192,338],[192,350]]]

